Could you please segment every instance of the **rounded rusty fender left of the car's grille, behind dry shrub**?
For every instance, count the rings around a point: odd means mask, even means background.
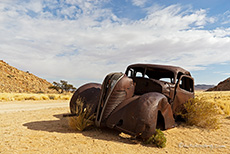
[[[83,101],[83,107],[86,107],[86,105],[90,105],[92,107],[92,112],[95,112],[97,104],[99,102],[100,92],[101,84],[98,83],[88,83],[81,86],[77,89],[77,91],[75,91],[70,100],[70,112],[72,114],[76,113],[76,101],[78,98]]]

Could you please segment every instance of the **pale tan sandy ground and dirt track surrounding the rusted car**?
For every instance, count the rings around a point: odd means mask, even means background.
[[[166,130],[166,148],[159,149],[109,129],[74,131],[62,117],[68,112],[68,101],[1,102],[0,153],[230,154],[229,116],[221,117],[221,128],[215,131],[188,126]]]

